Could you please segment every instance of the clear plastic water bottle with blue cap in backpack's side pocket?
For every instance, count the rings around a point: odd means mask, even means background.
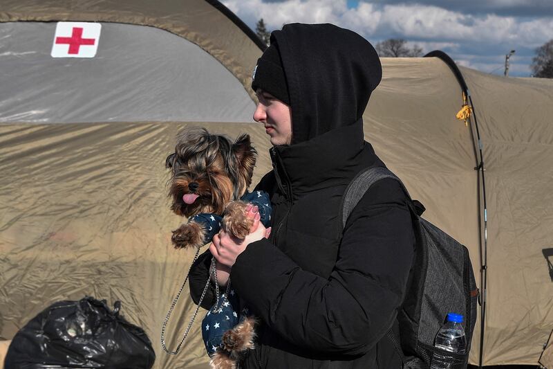
[[[462,315],[447,314],[446,323],[442,325],[436,335],[434,347],[456,354],[465,353],[467,340],[462,327]],[[462,361],[452,356],[434,353],[430,369],[450,369],[456,363],[462,363]]]

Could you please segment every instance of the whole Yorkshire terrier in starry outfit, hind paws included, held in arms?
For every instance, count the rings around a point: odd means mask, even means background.
[[[244,238],[254,222],[246,215],[249,203],[259,205],[261,222],[268,225],[268,195],[247,192],[255,163],[256,150],[247,134],[238,136],[234,142],[198,127],[178,134],[175,152],[165,161],[172,174],[169,180],[171,210],[188,219],[173,231],[171,241],[176,249],[200,248],[209,243],[221,227]],[[212,352],[208,348],[212,354],[212,368],[236,368],[243,354],[254,347],[255,323],[253,316],[242,316],[238,325],[227,330],[222,338],[218,337],[221,344],[214,346]]]

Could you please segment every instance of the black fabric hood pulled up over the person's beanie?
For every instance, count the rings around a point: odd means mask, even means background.
[[[361,119],[382,78],[373,46],[332,24],[287,24],[277,42],[292,108],[292,144]]]

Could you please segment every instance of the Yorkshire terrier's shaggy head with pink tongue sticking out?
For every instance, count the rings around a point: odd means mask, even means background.
[[[171,169],[171,210],[191,217],[199,213],[221,214],[225,205],[239,199],[252,183],[256,150],[250,136],[234,143],[206,129],[188,128],[177,136],[175,152],[167,156]]]

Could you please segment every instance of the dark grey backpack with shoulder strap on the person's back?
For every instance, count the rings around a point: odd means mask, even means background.
[[[465,246],[453,240],[420,215],[424,206],[413,201],[402,181],[390,170],[368,168],[357,174],[344,194],[342,228],[351,211],[369,188],[380,179],[400,182],[407,198],[415,228],[415,261],[409,275],[409,285],[402,306],[397,312],[399,336],[388,330],[388,339],[395,345],[403,368],[429,368],[433,353],[452,357],[452,369],[467,368],[472,334],[476,323],[478,289]],[[452,354],[434,347],[434,339],[447,313],[464,316],[467,339],[465,354]]]

